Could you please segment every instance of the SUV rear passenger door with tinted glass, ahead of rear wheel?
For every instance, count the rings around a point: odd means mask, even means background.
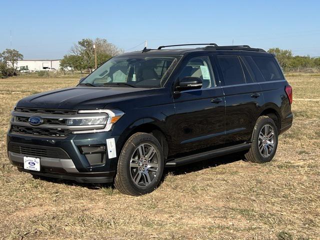
[[[264,104],[261,87],[239,55],[214,56],[225,96],[225,145],[250,140],[260,108]]]

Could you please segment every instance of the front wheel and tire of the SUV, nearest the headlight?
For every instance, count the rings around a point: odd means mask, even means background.
[[[153,191],[163,172],[163,152],[151,134],[137,132],[129,137],[120,153],[114,186],[128,195]]]

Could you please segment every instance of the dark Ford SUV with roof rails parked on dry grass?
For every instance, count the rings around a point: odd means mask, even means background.
[[[203,45],[124,53],[75,87],[19,100],[11,163],[138,195],[158,185],[165,166],[232,152],[270,161],[292,124],[292,89],[277,60],[248,45]]]

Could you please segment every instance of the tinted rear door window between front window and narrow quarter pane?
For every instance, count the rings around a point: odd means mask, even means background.
[[[224,85],[245,83],[240,60],[237,56],[218,56]]]

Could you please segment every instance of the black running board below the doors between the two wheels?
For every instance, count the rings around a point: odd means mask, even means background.
[[[227,146],[227,147],[223,147],[223,148],[219,148],[211,151],[205,151],[205,152],[196,153],[189,156],[170,159],[165,163],[165,166],[166,167],[181,166],[181,165],[193,163],[196,161],[206,160],[211,157],[216,157],[216,156],[226,155],[226,154],[230,154],[230,153],[234,153],[242,150],[247,150],[250,148],[250,146],[251,146],[251,143],[241,143],[234,146]]]

